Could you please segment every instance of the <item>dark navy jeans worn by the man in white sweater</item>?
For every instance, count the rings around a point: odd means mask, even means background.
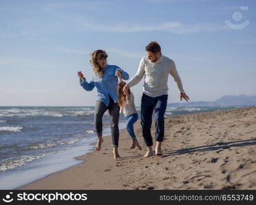
[[[167,107],[168,95],[150,97],[146,94],[141,98],[141,126],[144,142],[146,146],[152,146],[151,124],[154,111],[154,122],[156,126],[155,139],[163,141],[165,133],[165,109]]]

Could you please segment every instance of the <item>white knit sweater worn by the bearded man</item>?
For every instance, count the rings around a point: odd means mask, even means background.
[[[149,61],[148,57],[144,56],[139,63],[137,74],[132,77],[128,85],[132,87],[139,83],[144,74],[143,93],[148,96],[156,97],[167,94],[169,74],[174,78],[180,92],[185,93],[174,61],[164,55],[161,55],[154,63]]]

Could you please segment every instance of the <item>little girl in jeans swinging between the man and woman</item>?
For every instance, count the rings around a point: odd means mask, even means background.
[[[124,113],[124,119],[126,120],[126,130],[128,135],[132,139],[132,144],[130,146],[131,149],[134,149],[136,146],[141,150],[141,146],[139,146],[139,141],[136,139],[135,131],[133,128],[133,124],[138,120],[138,113],[135,107],[135,97],[128,90],[129,95],[123,92],[123,88],[126,83],[118,77],[118,85],[117,85],[117,97],[118,97],[118,105],[120,107],[120,113]]]

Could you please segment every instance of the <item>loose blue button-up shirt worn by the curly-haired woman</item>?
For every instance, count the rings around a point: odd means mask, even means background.
[[[97,76],[93,75],[93,78],[90,82],[87,82],[84,78],[82,81],[80,80],[80,85],[84,88],[84,90],[91,91],[94,87],[97,88],[97,100],[104,102],[106,107],[109,105],[109,96],[117,102],[117,83],[118,79],[115,76],[115,70],[120,70],[121,79],[128,80],[129,74],[124,70],[121,70],[118,66],[107,65],[104,68],[104,75]]]

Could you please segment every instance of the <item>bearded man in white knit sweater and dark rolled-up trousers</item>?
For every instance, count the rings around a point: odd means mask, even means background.
[[[146,56],[144,56],[139,63],[137,74],[135,74],[135,76],[124,87],[124,92],[128,93],[128,88],[139,83],[145,75],[143,96],[141,98],[141,126],[143,138],[146,146],[148,147],[148,152],[144,157],[153,155],[153,142],[150,132],[153,111],[156,126],[155,154],[162,155],[161,143],[163,141],[165,131],[164,115],[167,107],[167,81],[169,74],[172,75],[177,84],[178,90],[181,92],[181,100],[184,98],[188,101],[189,96],[187,96],[183,90],[183,85],[180,77],[178,76],[174,61],[161,54],[161,47],[157,42],[150,42],[146,46]]]

